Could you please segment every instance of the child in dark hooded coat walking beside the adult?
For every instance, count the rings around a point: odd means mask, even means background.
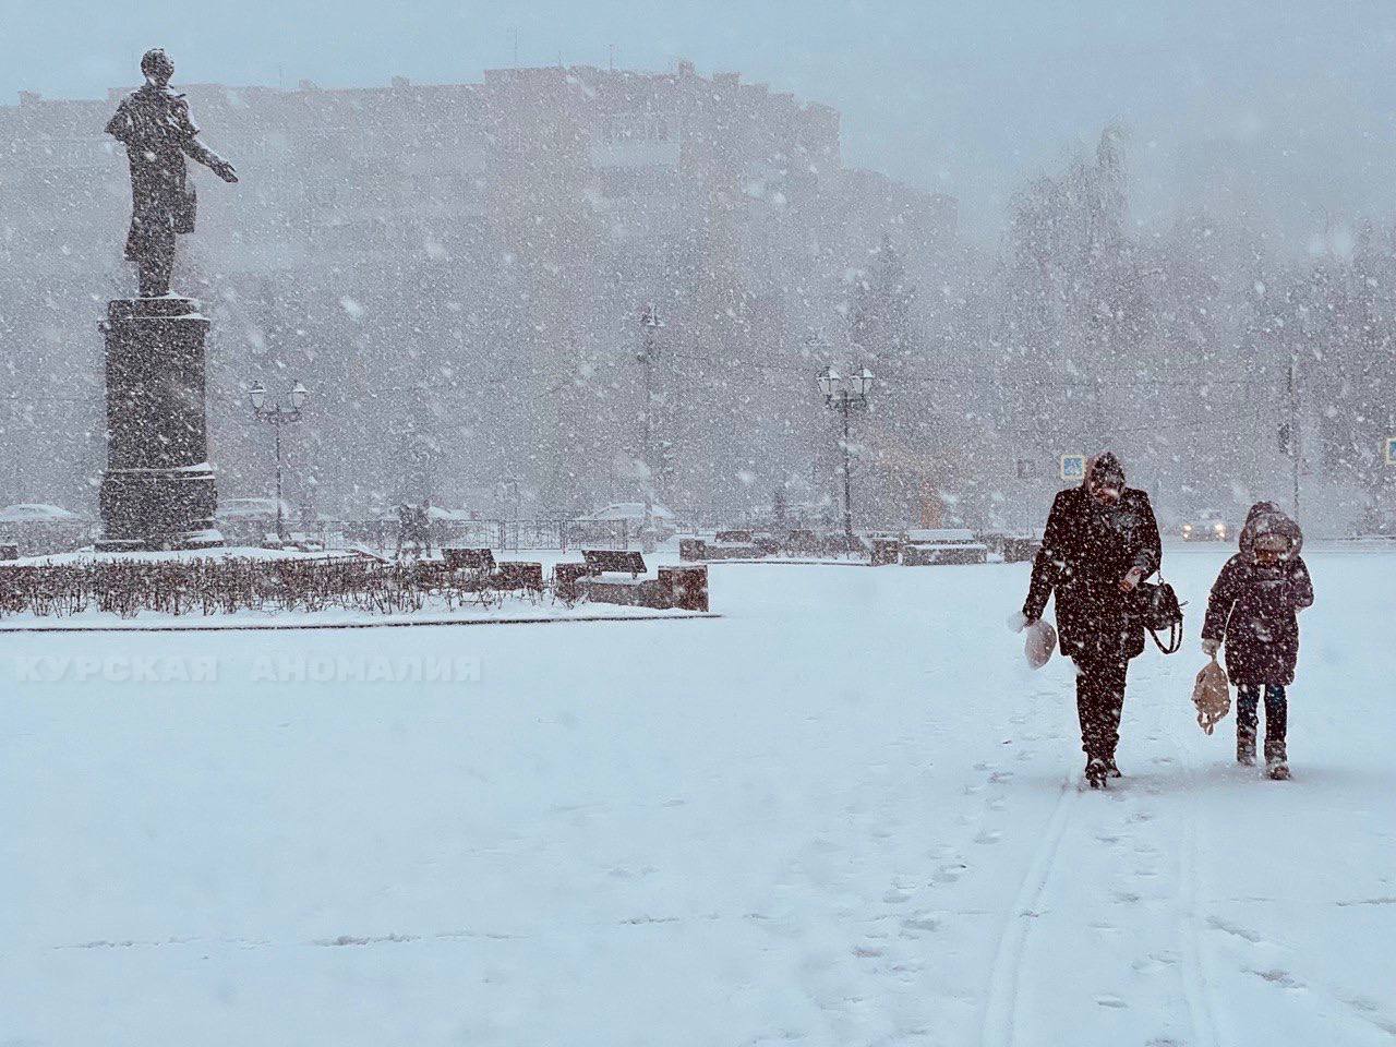
[[[1235,691],[1235,758],[1255,766],[1259,704],[1265,698],[1265,766],[1273,779],[1290,776],[1284,734],[1286,687],[1294,683],[1300,653],[1298,611],[1314,603],[1314,584],[1300,550],[1300,525],[1270,501],[1251,507],[1241,529],[1241,551],[1212,586],[1202,625],[1202,649],[1226,644],[1226,667]]]

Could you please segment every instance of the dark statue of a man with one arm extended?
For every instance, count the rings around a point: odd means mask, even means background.
[[[131,232],[126,260],[134,261],[141,297],[170,290],[174,237],[194,232],[194,183],[184,156],[209,168],[223,181],[237,181],[233,165],[198,141],[188,102],[170,91],[174,63],[159,47],[141,59],[145,84],[121,99],[106,133],[126,145],[131,162]]]

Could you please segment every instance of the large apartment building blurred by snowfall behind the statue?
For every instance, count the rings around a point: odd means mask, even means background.
[[[854,350],[849,274],[884,237],[927,265],[955,239],[952,200],[843,166],[835,110],[690,63],[179,89],[242,179],[202,187],[176,271],[214,320],[226,497],[262,494],[271,470],[244,391],[300,380],[313,399],[288,497],[331,515],[459,505],[500,476],[558,515],[646,476],[680,511],[768,500],[818,475],[808,345]],[[0,426],[20,450],[6,501],[91,508],[95,325],[134,290],[126,161],[102,134],[123,92],[0,107]],[[663,327],[646,406],[649,303]],[[434,490],[405,489],[406,448],[431,459],[416,472]]]

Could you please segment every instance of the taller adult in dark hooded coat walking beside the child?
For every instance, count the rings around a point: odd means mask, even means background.
[[[1093,789],[1120,775],[1125,677],[1129,659],[1143,651],[1134,591],[1161,560],[1149,496],[1125,486],[1124,466],[1108,451],[1090,461],[1081,487],[1053,503],[1023,620],[1037,621],[1055,595],[1061,652],[1076,663],[1076,712]]]

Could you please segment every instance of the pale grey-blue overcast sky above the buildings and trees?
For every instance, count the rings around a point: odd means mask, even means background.
[[[1290,230],[1396,209],[1393,0],[0,0],[0,101],[99,98],[145,47],[176,82],[461,82],[514,63],[736,70],[843,113],[849,163],[1004,197],[1108,120],[1136,215],[1166,218],[1226,155]],[[1210,174],[1206,174],[1210,177]]]

